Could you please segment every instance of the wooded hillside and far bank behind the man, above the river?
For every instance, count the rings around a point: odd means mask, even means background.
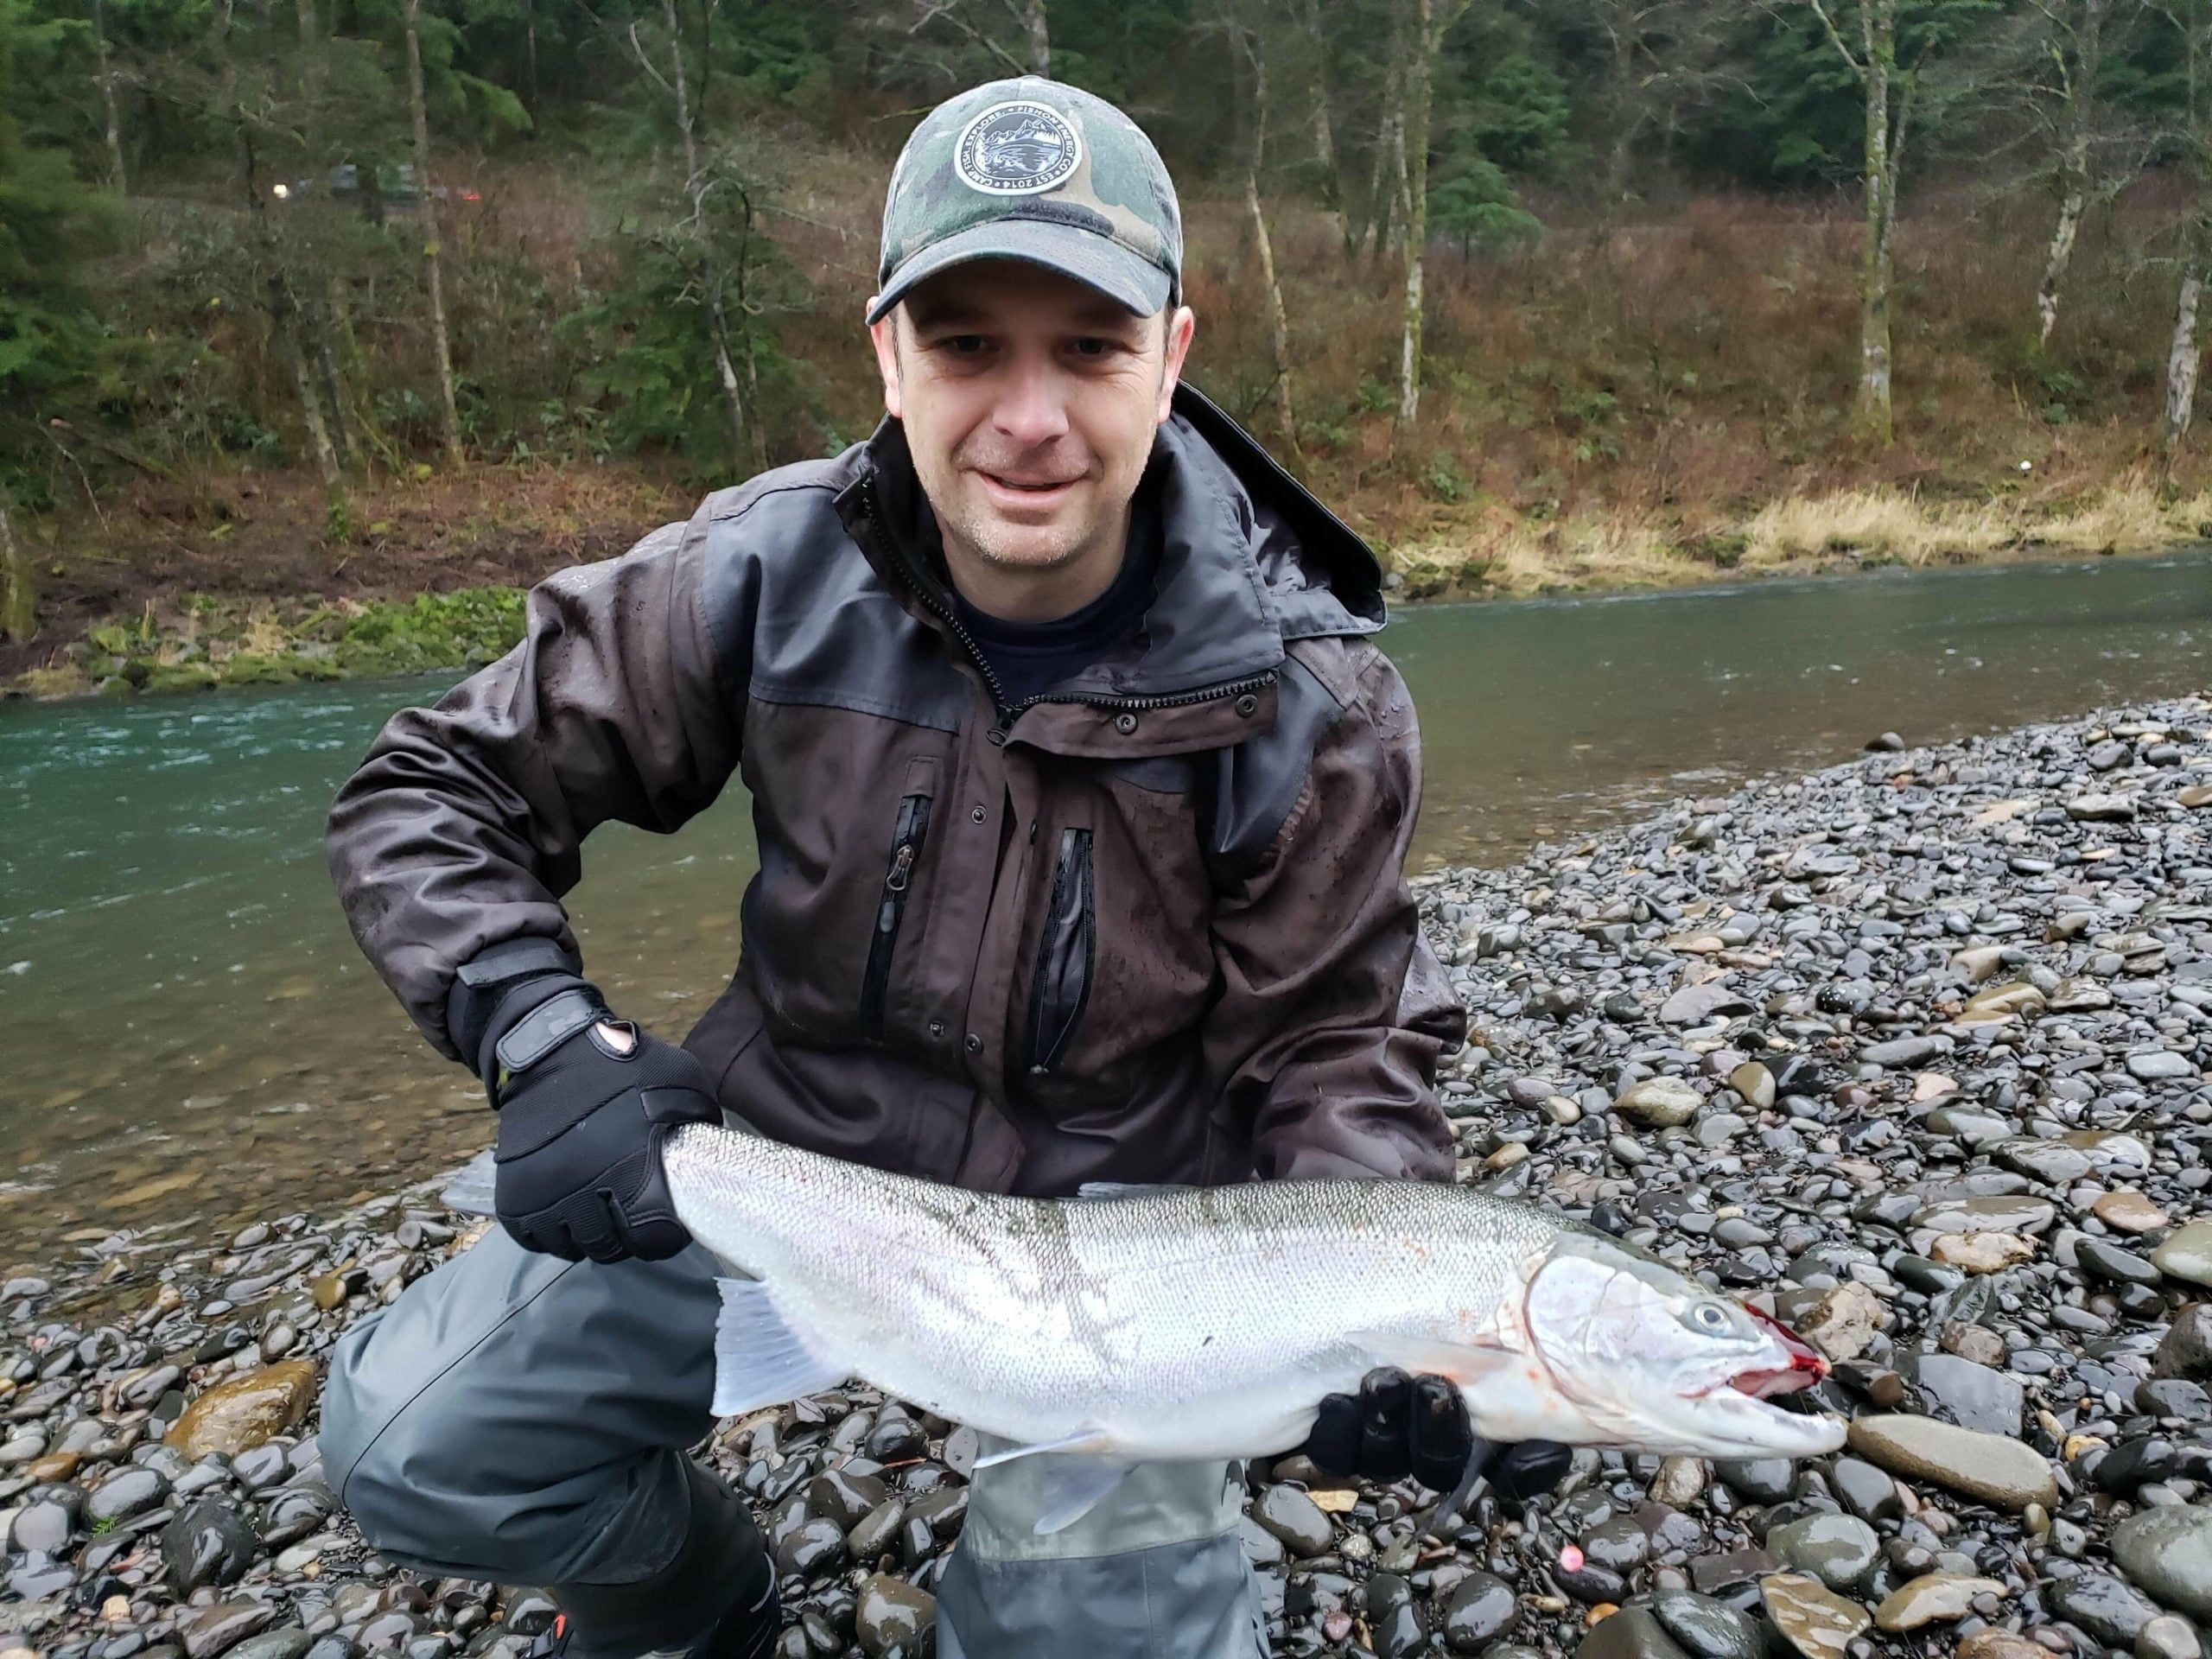
[[[471,661],[880,411],[1053,73],[1407,597],[2212,538],[2212,0],[0,0],[0,686]]]

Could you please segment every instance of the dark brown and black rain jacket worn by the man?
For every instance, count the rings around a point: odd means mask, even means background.
[[[478,951],[575,940],[608,818],[732,774],[761,869],[686,1046],[763,1133],[971,1188],[1449,1179],[1462,1015],[1402,878],[1413,706],[1367,546],[1177,392],[1144,626],[1002,708],[898,422],[542,582],[338,792],[347,920],[445,1053]]]

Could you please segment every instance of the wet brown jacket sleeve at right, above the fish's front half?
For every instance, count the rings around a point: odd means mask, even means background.
[[[1261,1179],[1449,1181],[1436,1057],[1464,1035],[1464,1013],[1402,874],[1420,805],[1413,701],[1360,644],[1321,672],[1294,659],[1276,723],[1270,768],[1294,757],[1303,781],[1214,907],[1223,995],[1208,1046],[1225,1108]]]

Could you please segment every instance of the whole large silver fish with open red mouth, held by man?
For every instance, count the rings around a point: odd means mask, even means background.
[[[1263,1458],[1376,1365],[1460,1385],[1475,1433],[1809,1458],[1767,1396],[1827,1363],[1772,1318],[1524,1203],[1427,1181],[1086,1188],[1013,1199],[714,1126],[677,1214],[721,1281],[719,1416],[860,1378],[1060,1460],[1079,1517],[1135,1462]]]

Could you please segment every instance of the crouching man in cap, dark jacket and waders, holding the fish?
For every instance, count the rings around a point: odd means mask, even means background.
[[[717,1298],[675,1124],[1029,1194],[1451,1177],[1378,571],[1181,387],[1179,301],[1128,117],[951,100],[885,206],[876,436],[544,582],[338,794],[363,949],[500,1113],[502,1230],[332,1360],[325,1467],[389,1557],[555,1586],[586,1659],[768,1650],[774,1571],[686,1455]],[[675,830],[739,770],[743,951],[675,1048],[582,978],[560,894],[597,823]],[[1449,1484],[1471,1442],[1449,1385],[1378,1374],[1310,1451]],[[1252,1659],[1239,1498],[1150,1467],[1040,1537],[1035,1469],[978,1475],[938,1652]]]

